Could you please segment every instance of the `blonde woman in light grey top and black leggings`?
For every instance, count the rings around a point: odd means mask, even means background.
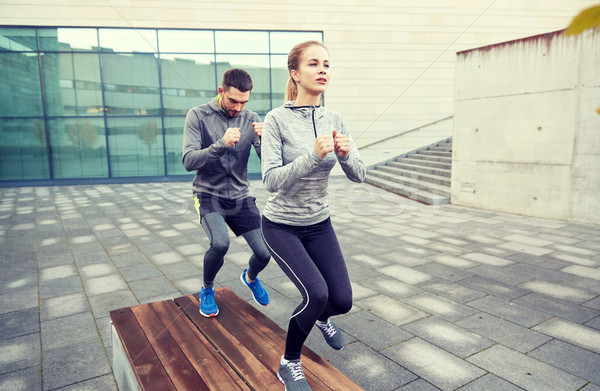
[[[321,106],[329,84],[329,56],[316,41],[296,45],[288,56],[286,103],[265,117],[263,182],[271,196],[262,232],[271,255],[302,294],[289,322],[278,377],[286,390],[310,390],[300,351],[313,325],[341,349],[341,331],[330,317],[352,308],[344,257],[329,219],[327,182],[336,161],[353,182],[366,168],[342,117]]]

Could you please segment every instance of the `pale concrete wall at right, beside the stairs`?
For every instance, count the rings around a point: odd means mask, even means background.
[[[600,31],[458,53],[454,204],[600,223]]]

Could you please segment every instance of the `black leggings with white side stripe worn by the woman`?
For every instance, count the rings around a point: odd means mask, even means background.
[[[348,270],[330,219],[291,226],[263,217],[262,233],[273,259],[302,295],[285,347],[285,358],[295,360],[317,319],[325,321],[352,308]]]

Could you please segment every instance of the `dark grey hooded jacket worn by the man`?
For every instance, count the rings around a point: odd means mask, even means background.
[[[237,117],[227,115],[216,97],[207,104],[190,109],[183,131],[183,166],[196,170],[194,195],[210,194],[231,200],[248,196],[248,157],[254,145],[260,158],[260,139],[253,122],[260,117],[243,110]],[[240,128],[240,141],[228,148],[223,140],[227,128]]]

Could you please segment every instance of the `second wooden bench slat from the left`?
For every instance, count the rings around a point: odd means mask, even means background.
[[[175,388],[208,391],[208,386],[177,345],[177,342],[154,312],[152,306],[147,304],[138,305],[131,307],[131,311],[146,332],[148,340],[160,358]]]

